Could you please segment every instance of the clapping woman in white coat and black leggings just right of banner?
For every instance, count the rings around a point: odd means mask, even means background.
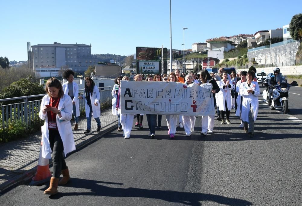
[[[230,110],[232,108],[231,105],[231,90],[234,88],[233,84],[230,84],[230,80],[227,77],[227,73],[224,71],[222,74],[222,80],[217,84],[220,88],[218,93],[218,106],[219,111],[221,113],[221,124],[224,124],[224,113],[226,113],[226,123],[230,124]]]

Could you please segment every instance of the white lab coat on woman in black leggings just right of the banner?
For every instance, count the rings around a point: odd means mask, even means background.
[[[217,81],[218,87],[220,88],[220,91],[217,93],[217,106],[219,106],[219,110],[220,111],[226,111],[225,108],[225,101],[226,101],[226,105],[228,110],[232,109],[232,104],[231,104],[231,90],[234,88],[233,84],[230,82],[231,88],[229,87],[225,87],[223,89],[224,86],[224,81]]]

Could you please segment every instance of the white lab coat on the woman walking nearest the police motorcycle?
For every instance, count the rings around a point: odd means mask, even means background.
[[[248,93],[247,90],[252,88],[254,90],[254,94]],[[249,86],[247,82],[243,82],[240,84],[239,93],[243,97],[242,98],[242,107],[241,107],[241,120],[243,122],[249,122],[249,111],[250,107],[254,112],[254,121],[257,119],[259,101],[258,96],[260,94],[259,84],[256,81],[252,81]]]

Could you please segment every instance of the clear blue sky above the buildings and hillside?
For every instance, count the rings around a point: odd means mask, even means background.
[[[31,45],[91,43],[92,54],[131,55],[137,46],[170,49],[169,0],[11,0],[1,3],[0,56],[27,60]],[[239,33],[282,28],[302,1],[172,0],[172,48]],[[4,29],[5,28],[5,29]]]

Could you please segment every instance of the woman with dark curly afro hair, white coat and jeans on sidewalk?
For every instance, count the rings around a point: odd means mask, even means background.
[[[73,81],[74,78],[74,71],[71,69],[67,69],[63,72],[63,78],[67,79],[63,86],[64,94],[67,94],[72,99],[72,113],[75,117],[75,127],[74,130],[78,130],[78,122],[80,116],[80,109],[79,109],[79,87],[76,82]]]

